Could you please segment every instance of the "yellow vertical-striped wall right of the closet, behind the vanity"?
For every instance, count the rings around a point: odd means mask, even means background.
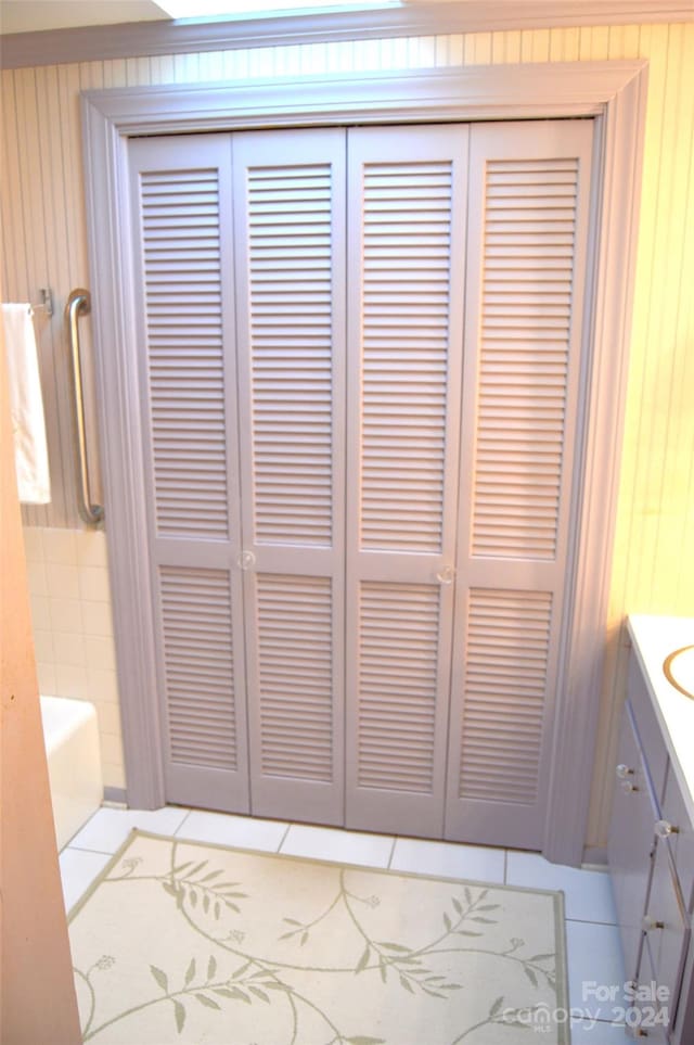
[[[625,30],[625,46],[633,46]],[[651,61],[607,661],[589,842],[602,844],[626,685],[626,613],[694,613],[694,25],[642,26]]]

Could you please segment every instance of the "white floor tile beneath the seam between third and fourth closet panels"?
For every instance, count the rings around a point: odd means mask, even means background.
[[[502,883],[504,851],[486,849],[484,845],[399,838],[395,843],[390,868],[420,875],[440,875],[444,878],[470,878]]]

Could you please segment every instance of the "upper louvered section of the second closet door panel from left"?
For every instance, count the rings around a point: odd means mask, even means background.
[[[331,166],[246,177],[256,540],[330,547]]]

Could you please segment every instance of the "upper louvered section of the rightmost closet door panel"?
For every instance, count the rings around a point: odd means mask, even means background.
[[[476,556],[556,553],[577,192],[576,160],[487,163]]]

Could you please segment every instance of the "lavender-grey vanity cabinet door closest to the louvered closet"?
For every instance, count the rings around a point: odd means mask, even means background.
[[[637,976],[643,938],[643,915],[655,845],[653,806],[631,712],[625,705],[621,717],[613,814],[607,854],[621,936],[625,972]]]

